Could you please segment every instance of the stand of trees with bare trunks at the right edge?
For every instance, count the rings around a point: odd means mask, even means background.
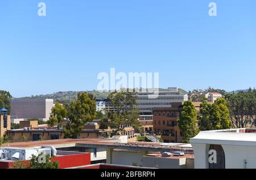
[[[256,125],[256,92],[239,92],[225,96],[233,128],[251,128]]]

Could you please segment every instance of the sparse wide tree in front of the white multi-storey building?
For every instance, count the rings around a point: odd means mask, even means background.
[[[138,121],[139,110],[134,108],[137,104],[137,96],[134,93],[113,92],[108,100],[114,106],[113,111],[106,113],[106,118],[110,119],[112,135],[119,135],[126,127],[133,127],[135,130],[141,128],[142,125]]]

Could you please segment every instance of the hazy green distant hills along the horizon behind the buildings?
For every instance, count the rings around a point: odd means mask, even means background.
[[[159,91],[167,91],[167,89],[159,88]],[[185,91],[184,89],[178,89],[178,91],[182,94],[187,94],[188,92]],[[36,95],[36,96],[31,96],[31,97],[20,97],[19,99],[35,99],[35,98],[52,98],[54,101],[59,101],[61,103],[64,102],[69,102],[71,100],[76,100],[77,98],[77,93],[80,93],[82,91],[60,91],[60,92],[55,92],[52,94],[48,95]],[[92,93],[94,97],[97,99],[104,99],[109,96],[109,92],[98,92],[98,91],[87,91],[88,93]]]

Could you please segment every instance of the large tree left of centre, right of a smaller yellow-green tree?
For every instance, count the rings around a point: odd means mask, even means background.
[[[77,138],[86,122],[92,122],[96,116],[96,100],[93,95],[82,92],[77,100],[67,105],[69,122],[64,128],[65,138]]]

